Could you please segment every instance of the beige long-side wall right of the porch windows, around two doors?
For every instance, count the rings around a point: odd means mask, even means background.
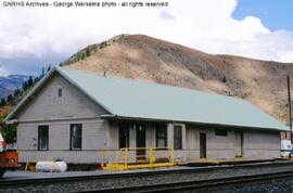
[[[228,129],[227,137],[216,136],[213,127],[187,127],[187,160],[200,160],[200,132],[206,133],[208,159],[235,158],[235,131]],[[279,132],[243,130],[243,158],[271,159],[280,157]]]

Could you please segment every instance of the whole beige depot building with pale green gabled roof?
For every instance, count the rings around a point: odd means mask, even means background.
[[[17,124],[23,163],[94,164],[123,147],[157,146],[173,146],[177,163],[272,159],[280,131],[289,131],[242,99],[61,67],[5,121]]]

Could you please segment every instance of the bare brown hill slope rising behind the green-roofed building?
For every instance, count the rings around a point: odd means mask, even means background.
[[[79,51],[63,65],[235,95],[286,121],[286,75],[293,75],[293,64],[213,55],[148,36],[120,35]]]

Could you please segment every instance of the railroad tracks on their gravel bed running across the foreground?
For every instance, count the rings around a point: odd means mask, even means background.
[[[0,180],[0,192],[176,192],[293,178],[293,163]]]

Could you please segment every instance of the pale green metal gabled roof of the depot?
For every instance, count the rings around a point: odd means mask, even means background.
[[[55,67],[52,72],[60,73],[113,116],[289,131],[288,127],[242,99],[104,77],[85,70]],[[7,119],[15,116],[21,106],[17,105]]]

